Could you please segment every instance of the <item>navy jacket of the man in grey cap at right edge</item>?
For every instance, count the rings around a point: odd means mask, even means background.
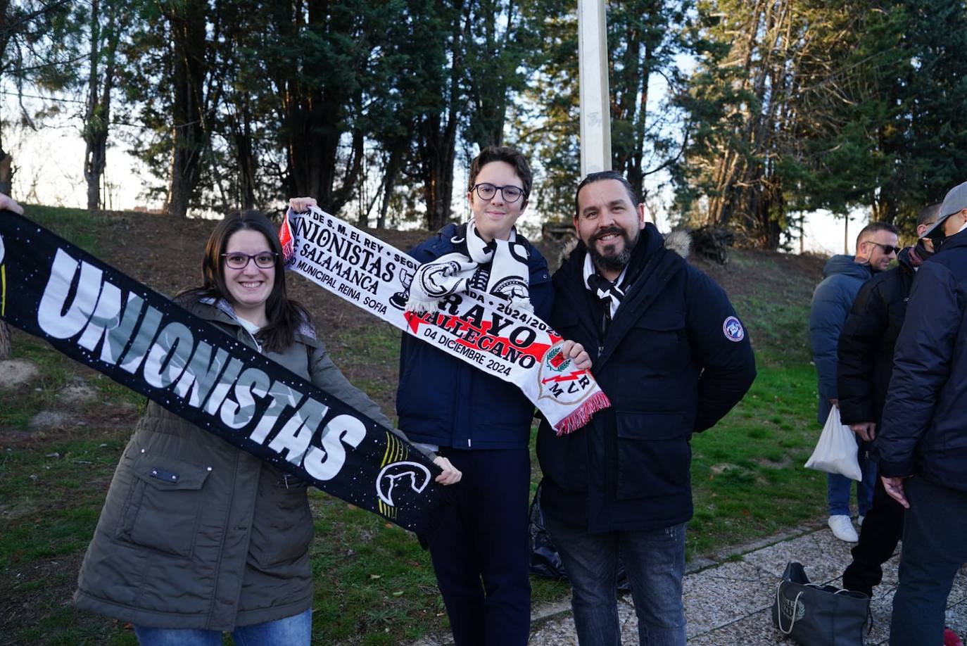
[[[913,281],[876,451],[884,476],[967,491],[967,231]]]

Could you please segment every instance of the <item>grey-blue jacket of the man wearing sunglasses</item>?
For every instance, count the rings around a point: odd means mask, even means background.
[[[836,343],[846,315],[853,306],[857,292],[872,276],[869,267],[854,262],[851,255],[835,255],[823,267],[823,279],[812,292],[809,307],[809,345],[812,362],[819,378],[820,425],[830,416],[830,399],[837,398]]]

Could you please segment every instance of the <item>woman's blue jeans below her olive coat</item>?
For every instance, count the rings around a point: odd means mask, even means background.
[[[191,631],[135,626],[141,646],[221,646],[221,631]],[[239,626],[232,631],[235,646],[308,646],[312,639],[312,610],[264,624]]]

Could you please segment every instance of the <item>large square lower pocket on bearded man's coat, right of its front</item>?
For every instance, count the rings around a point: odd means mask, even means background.
[[[682,413],[618,411],[618,498],[689,490],[689,426]]]

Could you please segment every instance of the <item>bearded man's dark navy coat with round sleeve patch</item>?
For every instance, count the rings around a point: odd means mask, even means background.
[[[592,533],[689,520],[691,434],[714,426],[755,378],[725,292],[666,250],[652,224],[634,253],[646,254],[643,269],[603,338],[601,309],[583,282],[583,246],[553,279],[550,323],[584,345],[611,406],[563,437],[542,422],[542,507]]]

